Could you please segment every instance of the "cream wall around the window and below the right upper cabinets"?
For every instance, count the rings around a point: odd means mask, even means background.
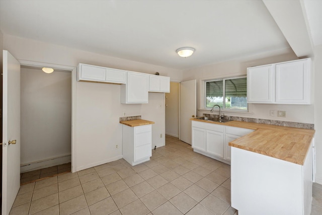
[[[272,54],[273,55],[270,57],[254,55],[245,57],[244,59],[240,60],[231,60],[186,70],[183,73],[183,81],[193,79],[197,80],[197,108],[199,109],[200,80],[246,76],[247,67],[298,59],[291,50],[286,50],[286,52],[282,54]],[[286,117],[271,117],[269,115],[270,110],[284,110],[286,111]],[[226,115],[280,121],[314,123],[314,105],[252,104],[251,111],[253,112],[252,114],[227,113]],[[201,116],[203,113],[210,113],[210,111],[197,111],[198,116]]]

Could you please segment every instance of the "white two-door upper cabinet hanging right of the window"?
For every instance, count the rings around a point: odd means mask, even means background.
[[[248,103],[310,104],[311,59],[247,69]]]

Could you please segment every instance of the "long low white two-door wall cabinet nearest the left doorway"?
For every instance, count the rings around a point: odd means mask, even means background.
[[[79,63],[77,69],[77,81],[125,84],[126,73],[127,71],[125,70]]]

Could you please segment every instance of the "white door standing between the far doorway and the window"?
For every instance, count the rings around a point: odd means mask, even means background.
[[[197,115],[196,80],[180,83],[180,139],[191,145],[191,120]]]

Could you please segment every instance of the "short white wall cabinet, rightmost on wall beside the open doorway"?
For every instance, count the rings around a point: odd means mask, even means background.
[[[170,93],[170,77],[149,75],[149,92]]]

